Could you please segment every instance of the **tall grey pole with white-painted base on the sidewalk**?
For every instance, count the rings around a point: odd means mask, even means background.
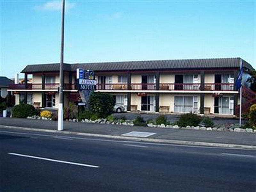
[[[61,47],[60,47],[60,87],[59,87],[58,131],[62,131],[62,130],[63,130],[63,51],[64,51],[64,15],[65,15],[65,0],[62,0],[62,17],[61,17]]]

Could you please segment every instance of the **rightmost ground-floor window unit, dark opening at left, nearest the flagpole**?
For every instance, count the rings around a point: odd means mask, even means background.
[[[234,97],[215,97],[214,113],[233,115],[234,114]]]

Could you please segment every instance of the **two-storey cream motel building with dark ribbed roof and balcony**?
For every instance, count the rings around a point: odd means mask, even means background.
[[[244,68],[253,69],[242,62]],[[116,104],[128,112],[234,116],[239,104],[235,81],[240,58],[64,64],[64,106],[79,98],[77,68],[93,70],[97,92],[114,95]],[[25,83],[8,89],[15,95],[15,104],[57,110],[59,64],[28,65],[21,73]],[[32,83],[27,83],[28,76]]]

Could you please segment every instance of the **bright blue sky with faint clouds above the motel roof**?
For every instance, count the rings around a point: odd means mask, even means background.
[[[255,1],[67,1],[64,62],[241,57],[256,68]],[[0,75],[60,61],[60,1],[1,1]]]

